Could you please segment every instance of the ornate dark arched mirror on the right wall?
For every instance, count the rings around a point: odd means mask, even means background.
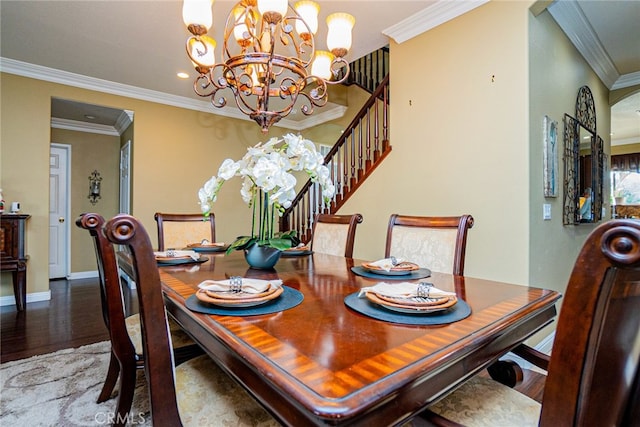
[[[605,154],[596,131],[596,109],[588,86],[578,90],[575,118],[564,115],[563,224],[602,219]]]

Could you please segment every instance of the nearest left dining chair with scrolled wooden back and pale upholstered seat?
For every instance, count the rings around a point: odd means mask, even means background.
[[[208,355],[186,361],[174,370],[162,285],[149,235],[136,218],[126,214],[109,220],[104,233],[113,244],[128,248],[138,278],[153,425],[279,425]]]

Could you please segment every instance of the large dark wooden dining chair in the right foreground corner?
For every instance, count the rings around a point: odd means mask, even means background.
[[[640,222],[605,222],[587,237],[569,278],[542,404],[474,377],[422,418],[449,426],[638,426],[638,313]]]

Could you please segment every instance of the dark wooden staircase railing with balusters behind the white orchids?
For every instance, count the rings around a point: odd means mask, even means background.
[[[320,186],[307,181],[280,218],[281,231],[296,230],[300,240],[308,242],[316,214],[336,213],[391,152],[388,62],[388,48],[383,48],[350,64],[347,84],[371,96],[325,156],[335,195],[324,204]]]

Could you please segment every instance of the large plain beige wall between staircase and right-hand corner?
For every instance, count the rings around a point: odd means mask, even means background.
[[[391,43],[393,151],[342,210],[364,215],[356,257],[383,255],[393,213],[471,214],[465,273],[527,283],[527,7],[490,2]]]

